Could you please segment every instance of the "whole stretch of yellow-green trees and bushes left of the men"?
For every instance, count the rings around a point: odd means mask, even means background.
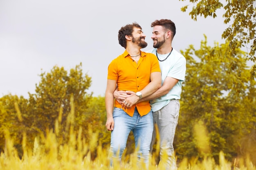
[[[13,137],[20,156],[23,134],[26,147],[32,148],[35,137],[43,137],[49,130],[54,131],[59,145],[68,143],[70,132],[78,134],[80,130],[87,142],[99,132],[99,139],[106,143],[108,135],[102,123],[106,117],[105,100],[86,92],[91,77],[83,75],[81,66],[70,69],[70,73],[58,66],[49,73],[41,73],[36,93],[29,93],[29,99],[11,94],[0,98],[0,152],[4,150],[5,130]]]

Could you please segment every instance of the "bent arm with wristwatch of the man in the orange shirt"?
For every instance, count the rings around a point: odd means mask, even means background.
[[[142,93],[142,98],[147,97],[157,91],[161,87],[161,72],[153,72],[150,74],[150,83],[144,87],[140,92]],[[132,107],[139,101],[139,97],[134,93],[125,99],[126,104],[123,104],[122,107],[126,109]],[[129,105],[130,104],[130,105]]]

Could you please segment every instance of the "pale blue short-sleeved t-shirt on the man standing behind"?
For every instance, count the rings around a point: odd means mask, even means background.
[[[153,53],[156,55],[157,49],[146,51],[147,53]],[[169,53],[168,53],[169,54]],[[158,54],[159,60],[164,60],[168,54]],[[171,99],[180,99],[182,91],[182,82],[185,80],[186,73],[186,58],[177,52],[175,49],[171,52],[171,55],[164,61],[160,62],[159,65],[162,73],[162,84],[166,77],[173,77],[179,79],[179,82],[173,86],[173,88],[167,93],[157,99],[150,101],[152,111],[155,112],[166,106]]]

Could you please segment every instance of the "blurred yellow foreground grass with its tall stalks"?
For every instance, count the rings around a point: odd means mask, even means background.
[[[9,131],[5,133],[4,152],[0,153],[0,170],[137,170],[136,153],[127,156],[121,165],[117,164],[115,168],[110,168],[108,159],[108,148],[101,148],[98,142],[98,134],[88,129],[89,139],[83,138],[82,129],[75,131],[72,126],[74,120],[73,100],[71,100],[71,113],[68,117],[68,125],[64,137],[66,143],[61,143],[61,135],[56,120],[55,131],[46,130],[34,139],[34,147],[27,146],[27,137],[23,133],[22,157],[13,146],[13,139]],[[60,114],[61,115],[61,114]],[[68,128],[69,127],[69,128]],[[211,152],[207,146],[207,134],[203,133],[203,126],[195,127],[196,139],[199,152]],[[98,145],[99,143],[99,145]],[[98,146],[97,146],[98,145]],[[159,144],[157,144],[159,151]],[[95,152],[96,151],[96,152]],[[95,153],[97,153],[95,155]],[[125,155],[125,154],[124,154]],[[157,155],[153,154],[151,164],[148,170],[164,170],[164,167],[157,167]],[[216,164],[211,157],[204,157],[202,161],[195,158],[193,160],[183,159],[178,163],[178,170],[256,170],[252,162],[246,158],[236,159],[234,162],[228,162],[224,153],[219,154],[219,163]]]

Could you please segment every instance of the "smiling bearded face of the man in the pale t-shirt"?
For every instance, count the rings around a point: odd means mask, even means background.
[[[159,48],[165,43],[165,39],[167,36],[167,31],[164,29],[163,26],[156,25],[153,28],[153,35],[151,36],[154,48]]]

